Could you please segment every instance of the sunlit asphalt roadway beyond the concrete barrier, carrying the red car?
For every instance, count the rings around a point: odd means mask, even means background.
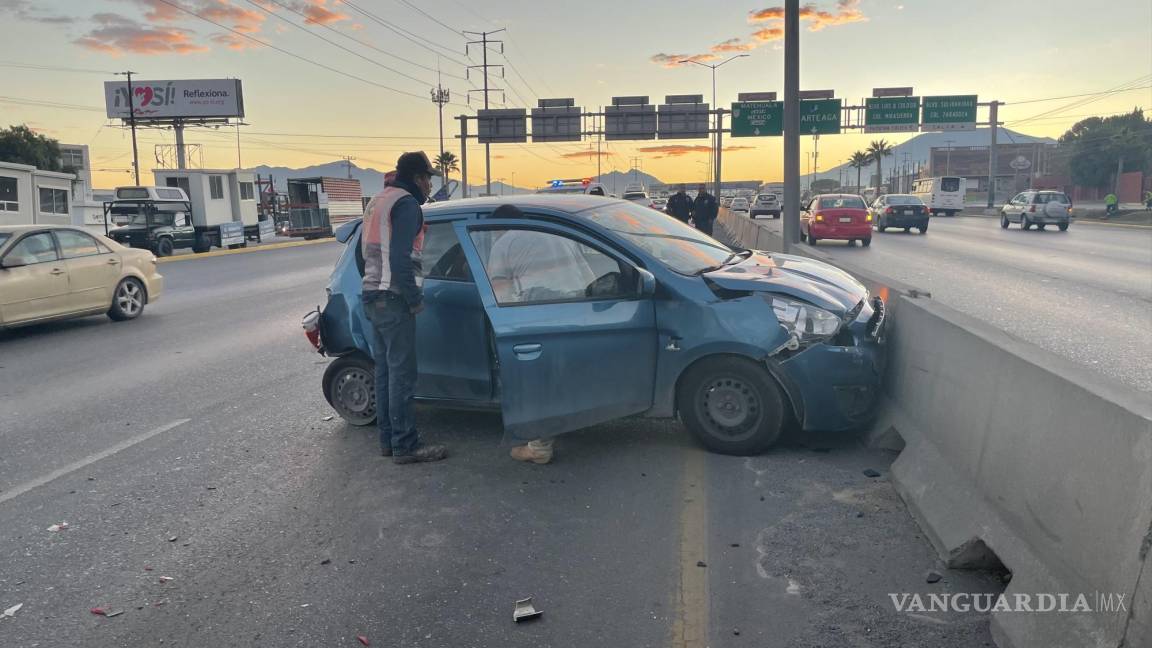
[[[775,232],[779,220],[759,219]],[[1001,229],[992,218],[933,218],[929,233],[873,232],[872,246],[817,248],[1129,386],[1152,391],[1152,228],[1074,223]]]

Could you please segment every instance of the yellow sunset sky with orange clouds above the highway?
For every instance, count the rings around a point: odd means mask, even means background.
[[[450,116],[471,113],[467,91],[479,85],[479,70],[469,82],[463,66],[480,58],[478,47],[465,54],[458,30],[507,28],[497,37],[505,54],[491,52],[490,62],[506,65],[505,78],[493,84],[507,89],[508,107],[533,107],[539,97],[574,97],[588,108],[623,95],[662,103],[665,95],[704,93],[708,100],[710,71],[675,61],[748,53],[718,71],[719,103],[727,106],[742,91],[782,95],[780,15],[771,0],[0,0],[0,24],[7,27],[0,126],[28,123],[61,142],[90,144],[96,186],[124,184],[131,146],[119,122],[104,116],[103,84],[118,80],[109,73],[238,77],[250,125],[241,134],[244,166],[306,166],[353,156],[358,166],[385,171],[404,150],[437,152],[429,90],[438,67],[454,101],[445,110],[446,148],[458,155]],[[821,0],[804,17],[801,85],[834,89],[851,103],[874,86],[978,95],[1008,103],[1001,110],[1008,128],[1047,136],[1083,116],[1152,108],[1147,0]],[[1129,90],[1075,97],[1116,88]],[[473,106],[480,100],[472,93]],[[870,137],[823,137],[821,168],[844,161]],[[172,134],[142,131],[139,141],[146,172],[156,166],[153,145],[172,143]],[[236,166],[234,129],[189,130],[187,141],[203,145],[205,167]],[[726,143],[740,148],[725,155],[726,179],[781,176],[779,137]],[[705,173],[706,140],[608,144],[605,172],[627,169],[639,157],[645,172],[670,182]],[[809,151],[811,140],[802,146]],[[520,187],[596,174],[594,142],[501,144],[492,151],[493,179],[510,183],[515,173]],[[473,142],[469,152],[470,181],[479,182],[482,148]]]

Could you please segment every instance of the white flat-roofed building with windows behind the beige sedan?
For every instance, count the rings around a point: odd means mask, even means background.
[[[0,161],[0,225],[71,225],[71,173]]]

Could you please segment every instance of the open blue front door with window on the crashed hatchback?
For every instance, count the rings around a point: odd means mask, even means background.
[[[652,407],[658,342],[646,271],[561,225],[455,228],[495,337],[506,432],[551,437]]]

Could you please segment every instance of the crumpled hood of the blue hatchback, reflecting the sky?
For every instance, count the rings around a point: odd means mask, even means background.
[[[867,296],[867,288],[843,270],[785,254],[753,253],[741,263],[704,273],[704,278],[729,291],[801,299],[841,316]]]

